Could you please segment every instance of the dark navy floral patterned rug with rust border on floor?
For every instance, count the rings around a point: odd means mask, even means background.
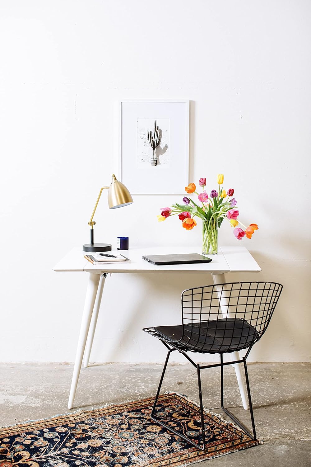
[[[0,428],[0,467],[177,467],[261,443],[205,411],[207,451],[200,451],[150,420],[153,401],[148,398]],[[195,403],[175,393],[163,394],[156,415],[201,443]]]

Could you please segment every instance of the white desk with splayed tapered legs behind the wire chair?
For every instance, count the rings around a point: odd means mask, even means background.
[[[131,261],[118,262],[104,265],[93,265],[84,258],[82,247],[73,248],[53,268],[55,271],[66,272],[87,272],[88,287],[84,302],[84,309],[81,321],[81,328],[76,350],[76,360],[72,376],[68,408],[72,409],[76,387],[78,384],[83,355],[84,366],[89,365],[90,352],[92,348],[95,328],[97,324],[98,311],[102,300],[105,278],[108,273],[203,273],[213,276],[214,284],[225,283],[225,273],[228,272],[258,272],[260,267],[244,247],[222,247],[219,248],[218,255],[211,256],[213,261],[200,264],[175,264],[166,266],[154,266],[142,259],[143,255],[165,255],[173,253],[196,253],[194,250],[178,248],[137,248],[119,253],[131,259]],[[197,253],[200,253],[198,251]],[[180,290],[180,293],[182,290]],[[233,358],[239,360],[238,352],[233,353]],[[239,384],[242,403],[245,410],[249,408],[247,396],[242,379],[241,367],[239,363],[233,365]]]

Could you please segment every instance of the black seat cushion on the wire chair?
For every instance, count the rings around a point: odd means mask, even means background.
[[[172,343],[179,341],[176,344],[177,347],[212,354],[247,348],[258,335],[255,327],[240,318],[222,318],[184,324],[183,337],[182,325],[156,326],[153,329],[159,333],[159,337],[165,337]]]

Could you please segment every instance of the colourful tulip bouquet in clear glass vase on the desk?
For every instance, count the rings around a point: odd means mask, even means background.
[[[163,221],[178,214],[182,226],[187,230],[192,230],[196,226],[195,216],[202,219],[202,253],[204,255],[217,254],[218,229],[223,219],[230,222],[234,228],[233,233],[238,240],[242,240],[244,235],[250,239],[255,230],[258,230],[257,224],[250,224],[246,227],[238,219],[237,201],[233,198],[234,189],[229,188],[227,192],[223,189],[223,174],[218,175],[217,183],[218,191],[212,190],[209,196],[206,191],[206,178],[200,178],[199,185],[202,188],[200,193],[197,193],[195,184],[190,183],[186,186],[185,191],[188,194],[197,195],[200,205],[185,196],[182,199],[183,205],[175,203],[171,207],[162,208],[161,214],[158,216],[158,220]]]

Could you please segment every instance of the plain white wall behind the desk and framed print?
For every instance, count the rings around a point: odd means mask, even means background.
[[[283,283],[254,361],[310,359],[309,1],[0,1],[1,361],[73,361],[86,275],[54,264],[89,239],[116,171],[118,99],[191,99],[190,181],[234,187],[254,279]],[[96,239],[196,248],[174,196],[97,212]],[[236,245],[228,225],[220,243]],[[130,254],[130,253],[129,253]],[[235,275],[242,280],[249,276]],[[180,319],[180,292],[210,277],[112,276],[93,361],[163,361],[143,326]]]

